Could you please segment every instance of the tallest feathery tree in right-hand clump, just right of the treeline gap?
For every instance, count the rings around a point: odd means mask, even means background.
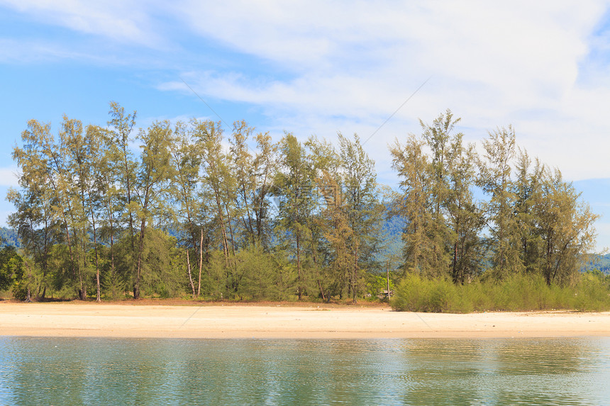
[[[449,110],[432,125],[420,120],[421,138],[411,135],[404,146],[397,140],[390,148],[404,191],[394,210],[407,223],[405,271],[451,276],[455,283],[478,273],[482,227],[471,190],[475,148],[463,145],[461,133],[452,135],[459,120]]]

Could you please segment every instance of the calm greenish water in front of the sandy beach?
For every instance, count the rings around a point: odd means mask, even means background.
[[[1,405],[610,405],[610,338],[0,337]]]

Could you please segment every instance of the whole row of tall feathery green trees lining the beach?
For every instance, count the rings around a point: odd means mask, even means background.
[[[393,190],[357,135],[273,142],[244,121],[196,119],[144,129],[113,102],[104,127],[65,116],[55,135],[30,120],[7,196],[21,247],[0,289],[28,300],[355,301],[411,276],[575,283],[597,215],[510,126],[477,153],[458,121],[445,111],[389,145]]]

